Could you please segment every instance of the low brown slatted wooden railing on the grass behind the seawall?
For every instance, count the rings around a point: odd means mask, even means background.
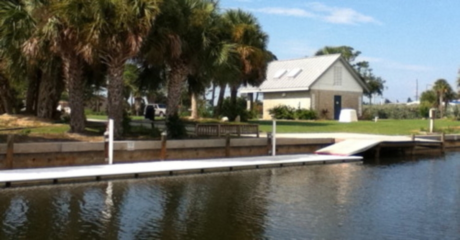
[[[225,134],[256,134],[259,137],[257,124],[196,124],[197,136],[223,136]]]

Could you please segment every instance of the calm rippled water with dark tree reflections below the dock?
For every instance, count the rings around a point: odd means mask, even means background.
[[[460,152],[0,189],[0,239],[460,239]]]

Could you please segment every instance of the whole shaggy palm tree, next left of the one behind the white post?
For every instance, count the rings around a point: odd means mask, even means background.
[[[84,5],[71,0],[49,0],[48,4],[49,14],[41,19],[42,24],[24,45],[24,51],[36,56],[48,47],[61,58],[71,109],[70,132],[81,133],[85,121],[83,56],[88,54],[81,44],[85,40],[81,27],[86,18],[80,14],[85,11]]]

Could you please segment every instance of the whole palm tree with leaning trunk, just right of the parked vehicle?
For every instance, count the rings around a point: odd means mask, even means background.
[[[188,75],[206,59],[216,6],[212,0],[165,1],[144,45],[147,61],[166,67],[168,118],[178,113],[181,87]]]

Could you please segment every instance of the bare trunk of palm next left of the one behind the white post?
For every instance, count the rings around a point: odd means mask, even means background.
[[[62,56],[64,78],[67,80],[68,101],[70,106],[70,132],[84,131],[83,107],[83,63],[75,54]]]

